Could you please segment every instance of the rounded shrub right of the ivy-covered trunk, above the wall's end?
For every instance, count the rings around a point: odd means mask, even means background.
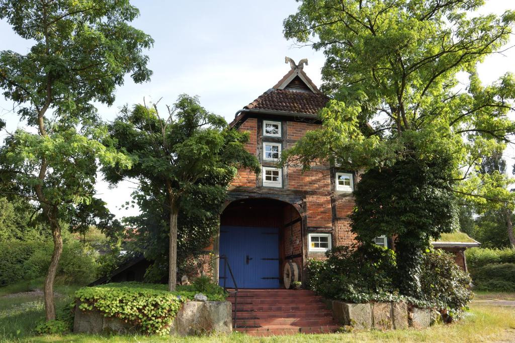
[[[424,254],[421,271],[421,298],[437,304],[440,309],[461,309],[472,300],[468,289],[470,276],[455,263],[454,256],[442,250]]]

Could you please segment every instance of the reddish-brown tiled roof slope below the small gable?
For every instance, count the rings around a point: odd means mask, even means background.
[[[271,88],[244,108],[316,115],[328,101],[323,94]]]

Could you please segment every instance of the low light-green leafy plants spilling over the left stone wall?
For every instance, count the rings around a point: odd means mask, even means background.
[[[208,300],[225,300],[223,288],[210,286]],[[167,285],[138,282],[109,283],[84,287],[75,293],[81,310],[96,309],[108,317],[117,317],[139,327],[146,334],[168,333],[171,320],[181,304],[193,300],[199,290],[194,285],[178,286],[168,292]]]

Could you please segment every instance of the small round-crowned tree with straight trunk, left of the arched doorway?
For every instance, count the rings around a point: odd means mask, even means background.
[[[177,279],[177,236],[180,209],[210,218],[199,197],[221,202],[236,167],[259,172],[255,156],[244,144],[248,135],[229,130],[224,118],[206,111],[198,98],[179,96],[161,118],[153,107],[125,107],[110,127],[117,147],[133,158],[131,169],[108,169],[111,182],[124,177],[139,179],[140,191],[167,213],[168,288],[175,291]],[[148,213],[144,213],[148,215]],[[158,224],[159,225],[159,224]]]

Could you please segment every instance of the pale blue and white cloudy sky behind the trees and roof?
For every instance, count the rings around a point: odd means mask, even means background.
[[[150,34],[155,40],[149,50],[150,82],[134,84],[129,77],[116,91],[113,106],[99,105],[105,120],[112,120],[118,108],[126,103],[157,101],[171,104],[181,93],[198,95],[202,105],[222,115],[227,121],[234,113],[253,101],[279,81],[289,70],[284,64],[288,56],[298,61],[307,58],[307,75],[320,85],[321,52],[309,47],[296,47],[282,35],[282,21],[296,11],[294,0],[261,1],[132,1],[141,15],[132,25]],[[482,13],[503,13],[515,8],[511,0],[487,0]],[[31,42],[14,34],[5,21],[0,21],[0,50],[26,53]],[[508,46],[515,43],[512,40]],[[515,49],[503,55],[488,57],[479,68],[484,83],[491,83],[506,71],[515,72]],[[7,130],[21,127],[12,114],[12,103],[0,98],[0,117],[7,120]],[[3,141],[5,133],[0,133]],[[510,150],[512,151],[512,150]],[[511,157],[511,152],[509,157]],[[508,161],[511,166],[513,161]],[[119,209],[130,200],[131,183],[115,189],[99,182],[99,196],[109,209],[121,218],[138,213],[138,209]]]

